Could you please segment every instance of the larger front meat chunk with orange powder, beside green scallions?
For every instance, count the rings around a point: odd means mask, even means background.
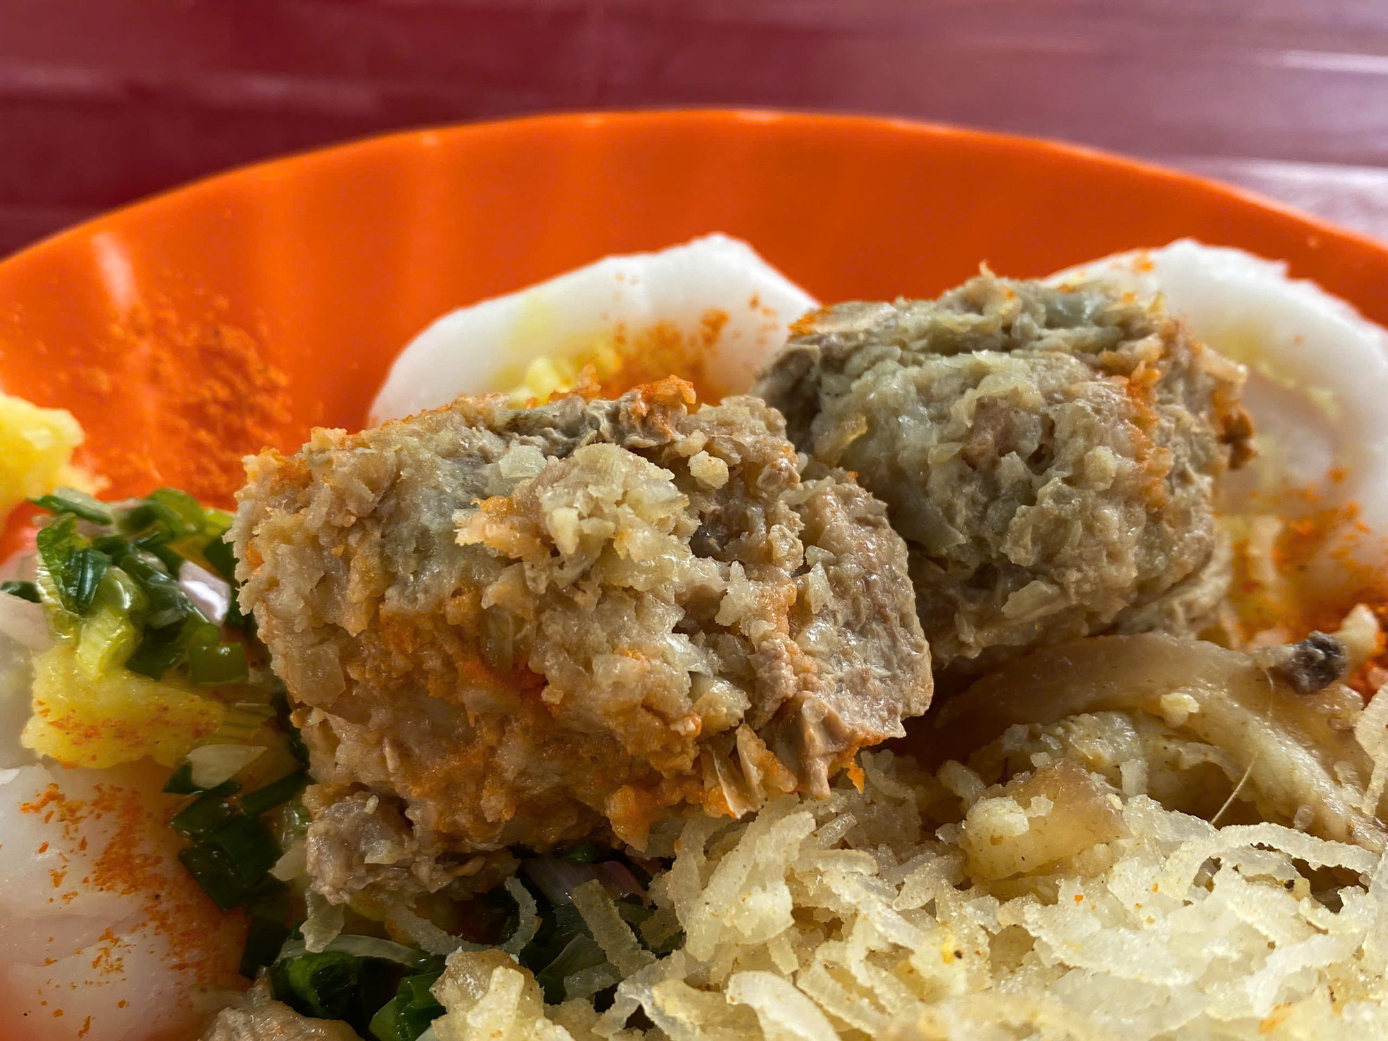
[[[248,462],[240,598],[297,706],[336,891],[358,833],[386,851],[364,872],[436,888],[440,858],[640,847],[675,806],[826,794],[924,711],[886,507],[798,458],[762,401],[693,405],[673,379],[459,398]]]

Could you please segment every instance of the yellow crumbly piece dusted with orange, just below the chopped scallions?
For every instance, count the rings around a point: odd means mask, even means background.
[[[74,647],[58,644],[33,659],[33,715],[19,740],[65,766],[105,769],[146,755],[172,766],[225,718],[219,701],[129,669],[93,679]]]

